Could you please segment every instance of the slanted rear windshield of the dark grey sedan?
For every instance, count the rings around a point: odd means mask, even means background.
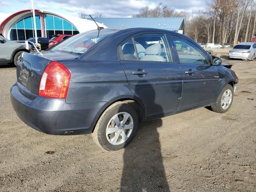
[[[66,52],[72,54],[82,55],[88,49],[92,48],[95,44],[100,42],[107,36],[117,32],[118,30],[91,30],[88,32],[80,33],[72,36],[60,44],[54,46],[52,51]]]

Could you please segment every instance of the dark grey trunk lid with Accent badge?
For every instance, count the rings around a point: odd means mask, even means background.
[[[42,73],[52,61],[74,59],[78,56],[62,52],[45,52],[42,54],[24,53],[17,65],[17,84],[20,92],[34,99],[38,96],[38,88]]]

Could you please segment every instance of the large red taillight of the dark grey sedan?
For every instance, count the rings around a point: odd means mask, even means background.
[[[70,82],[70,71],[61,63],[52,61],[45,68],[38,95],[48,98],[66,98]]]

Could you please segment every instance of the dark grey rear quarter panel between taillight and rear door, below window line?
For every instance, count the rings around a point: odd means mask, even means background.
[[[111,102],[134,97],[119,62],[78,58],[61,63],[71,72],[66,103]]]

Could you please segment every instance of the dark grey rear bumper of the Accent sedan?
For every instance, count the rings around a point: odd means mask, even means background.
[[[106,102],[67,104],[65,99],[24,96],[17,84],[10,89],[12,107],[28,126],[53,135],[88,134]]]

